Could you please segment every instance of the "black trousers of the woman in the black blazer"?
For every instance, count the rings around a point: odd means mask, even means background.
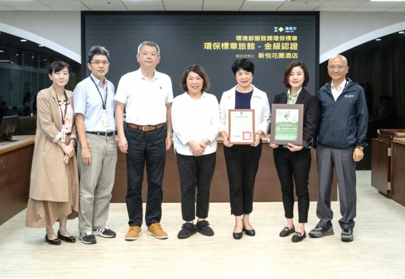
[[[274,148],[274,163],[280,179],[285,217],[294,217],[294,182],[298,197],[298,222],[308,222],[308,179],[311,168],[311,149],[291,152],[288,148]]]

